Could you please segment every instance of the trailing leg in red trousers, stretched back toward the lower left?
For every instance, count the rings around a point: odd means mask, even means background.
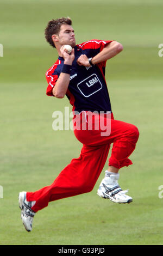
[[[52,185],[27,192],[27,200],[36,201],[32,210],[37,212],[54,200],[90,192],[102,172],[109,148],[109,144],[100,147],[84,145],[79,158],[73,159]]]

